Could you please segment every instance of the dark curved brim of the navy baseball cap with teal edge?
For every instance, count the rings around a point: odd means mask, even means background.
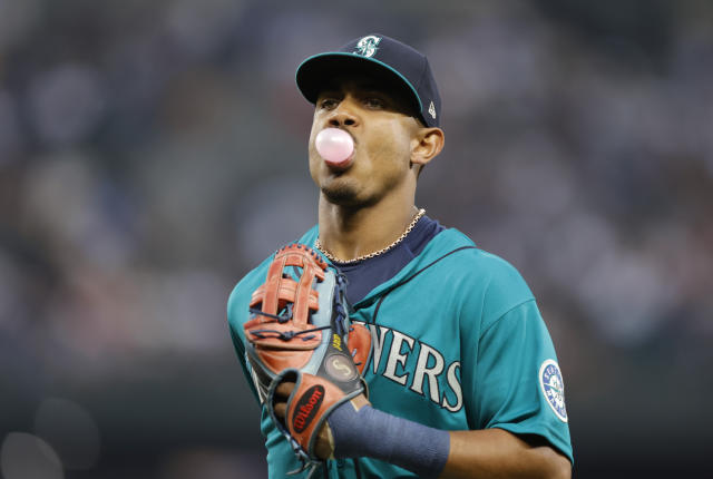
[[[377,59],[342,51],[319,53],[300,63],[296,72],[297,88],[307,101],[315,104],[320,94],[329,86],[331,78],[334,78],[339,72],[350,70],[382,75],[382,78],[403,86],[409,98],[413,101],[416,113],[420,116],[423,110],[421,98],[416,88],[403,75]]]

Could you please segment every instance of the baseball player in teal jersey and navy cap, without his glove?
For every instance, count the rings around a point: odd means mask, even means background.
[[[323,460],[314,476],[570,477],[563,377],[533,293],[506,261],[414,206],[419,174],[445,141],[427,58],[369,35],[307,58],[296,82],[315,105],[309,164],[320,189],[319,224],[296,243],[346,278],[350,321],[371,340],[371,353],[359,362],[367,388],[330,409],[310,440]],[[263,405],[274,478],[301,470],[294,424],[312,420],[322,391],[313,387],[299,412],[289,412],[296,411],[290,403],[301,377],[268,388],[256,380],[252,344],[274,330],[251,333],[257,330],[248,323],[261,314],[283,322],[254,305],[266,297],[271,277],[286,277],[268,271],[284,254],[250,272],[227,307],[238,359]]]

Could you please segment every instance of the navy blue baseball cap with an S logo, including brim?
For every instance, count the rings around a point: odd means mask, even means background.
[[[441,97],[426,56],[384,35],[372,33],[336,51],[314,55],[297,67],[297,88],[311,104],[335,74],[359,71],[390,80],[403,88],[414,116],[429,127],[440,125]]]

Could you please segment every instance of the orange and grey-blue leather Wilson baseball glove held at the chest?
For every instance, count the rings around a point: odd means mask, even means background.
[[[345,286],[346,278],[314,251],[291,244],[275,253],[244,324],[260,399],[304,467],[321,461],[314,447],[331,411],[367,393],[361,372],[371,334],[350,323]],[[275,416],[274,393],[284,381],[295,388],[283,423]]]

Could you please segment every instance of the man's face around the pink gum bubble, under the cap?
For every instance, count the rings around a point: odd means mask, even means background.
[[[310,135],[310,173],[331,203],[368,206],[401,190],[414,175],[410,158],[420,125],[400,91],[352,75],[319,96]],[[314,139],[325,128],[341,128],[352,136],[354,153],[346,167],[330,166],[316,151]]]

